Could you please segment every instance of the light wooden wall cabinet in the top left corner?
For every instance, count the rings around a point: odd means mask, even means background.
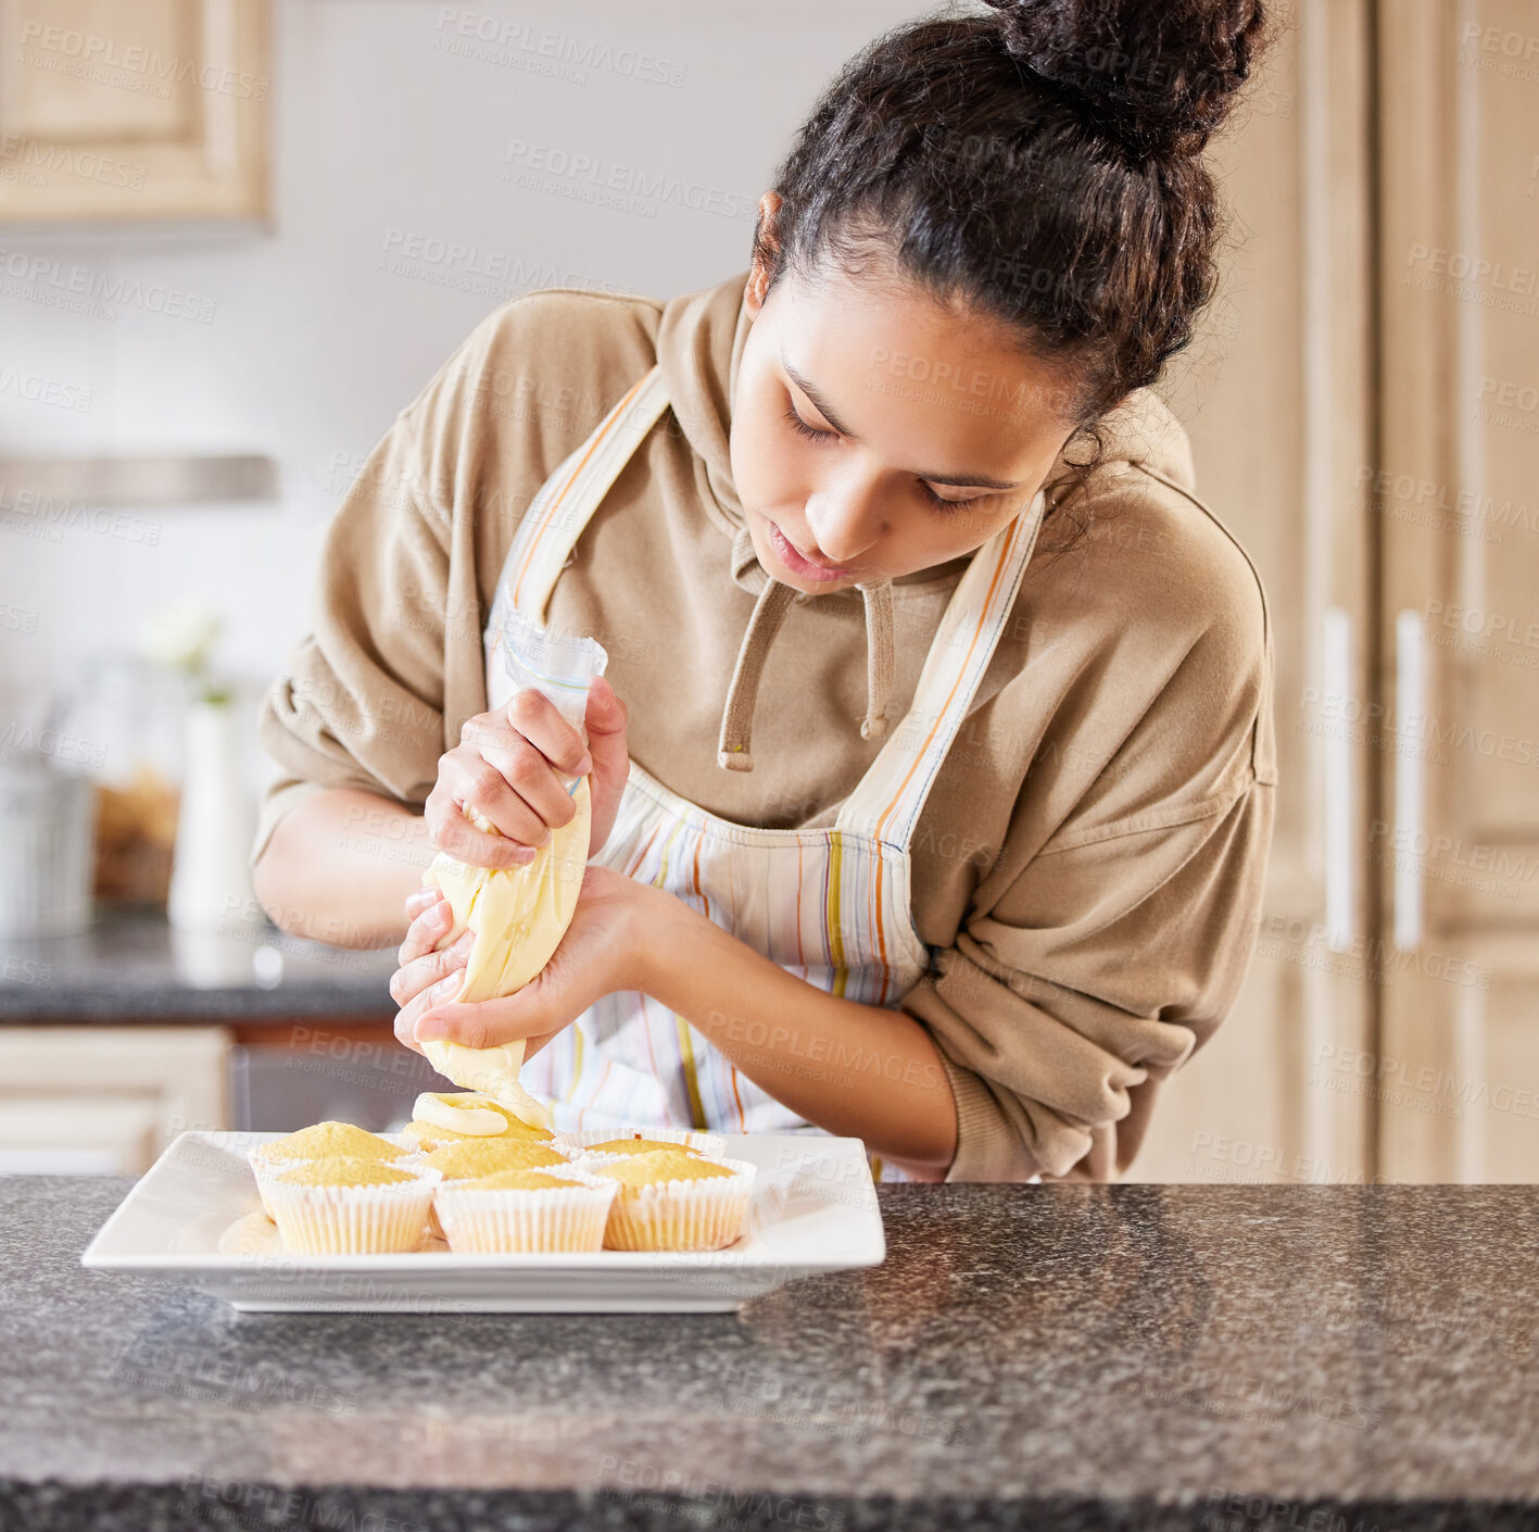
[[[0,0],[0,222],[263,219],[269,97],[266,0]]]

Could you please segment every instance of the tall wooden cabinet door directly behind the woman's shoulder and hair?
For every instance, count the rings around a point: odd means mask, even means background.
[[[1277,822],[1244,992],[1163,1087],[1131,1179],[1357,1181],[1368,1052],[1370,160],[1368,12],[1299,0],[1239,120],[1210,149],[1231,209],[1220,296],[1160,393],[1191,434],[1197,493],[1267,585]],[[1347,1089],[1336,1089],[1337,1084]]]

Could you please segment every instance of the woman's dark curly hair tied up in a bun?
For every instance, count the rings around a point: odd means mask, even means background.
[[[983,5],[845,65],[776,172],[779,249],[756,228],[754,253],[771,288],[870,263],[1002,320],[1094,434],[1213,296],[1202,151],[1264,46],[1262,0]]]

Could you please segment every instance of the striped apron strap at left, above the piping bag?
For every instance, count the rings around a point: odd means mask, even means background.
[[[529,502],[503,562],[500,584],[506,585],[519,611],[539,625],[545,625],[546,602],[583,527],[666,408],[662,368],[654,366],[631,385]]]

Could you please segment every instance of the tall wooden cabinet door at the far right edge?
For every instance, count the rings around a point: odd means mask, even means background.
[[[1539,1178],[1539,12],[1379,28],[1380,1169]]]

